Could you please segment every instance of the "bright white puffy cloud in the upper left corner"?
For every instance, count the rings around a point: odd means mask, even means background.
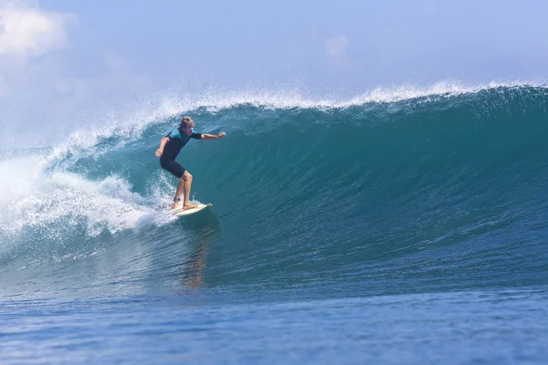
[[[19,5],[0,8],[0,57],[40,56],[63,47],[71,14]]]

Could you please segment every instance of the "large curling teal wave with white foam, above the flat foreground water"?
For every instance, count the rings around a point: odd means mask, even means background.
[[[176,180],[154,157],[180,113],[4,152],[1,270],[85,265],[90,283],[138,291],[181,277],[330,295],[543,286],[547,105],[548,89],[507,86],[186,110],[195,130],[227,132],[178,157],[214,204],[192,222],[162,213]]]

